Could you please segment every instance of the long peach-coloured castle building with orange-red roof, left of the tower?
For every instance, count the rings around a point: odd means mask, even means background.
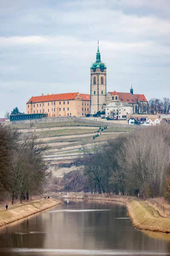
[[[26,103],[27,114],[46,113],[54,116],[86,116],[90,113],[90,94],[60,93],[32,96]]]

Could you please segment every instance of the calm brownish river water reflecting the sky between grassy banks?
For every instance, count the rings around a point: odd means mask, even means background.
[[[0,256],[170,255],[170,235],[143,232],[125,205],[66,200],[0,229]]]

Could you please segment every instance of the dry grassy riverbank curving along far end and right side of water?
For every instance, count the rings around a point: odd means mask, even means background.
[[[135,227],[142,230],[170,233],[170,218],[163,217],[147,201],[142,201],[139,198],[104,194],[91,195],[85,193],[60,194],[59,196],[61,198],[119,201],[126,204],[128,215]]]

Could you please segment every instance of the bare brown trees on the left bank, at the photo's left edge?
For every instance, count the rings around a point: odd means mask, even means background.
[[[25,136],[17,129],[0,125],[0,197],[6,192],[14,199],[29,200],[42,192],[48,172],[43,153],[48,150],[33,134]]]

